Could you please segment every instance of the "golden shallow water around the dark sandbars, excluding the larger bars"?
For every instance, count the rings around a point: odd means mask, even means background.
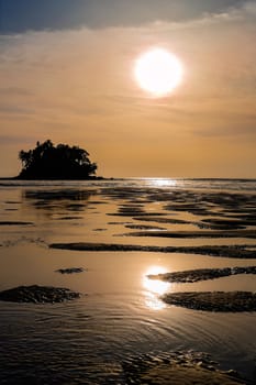
[[[255,378],[255,312],[194,311],[167,306],[159,298],[169,292],[255,292],[255,276],[181,285],[151,280],[147,274],[249,266],[256,264],[256,258],[48,246],[55,242],[93,242],[255,248],[255,239],[241,237],[132,235],[137,226],[151,226],[148,231],[155,227],[179,232],[199,230],[198,223],[209,218],[237,215],[253,218],[255,196],[256,180],[0,180],[0,290],[37,284],[85,294],[60,305],[0,301],[0,383],[122,384],[122,360],[177,350],[210,353],[222,369],[235,369],[247,378]],[[154,218],[148,221],[146,216],[140,218],[136,210],[178,221],[165,223]],[[255,226],[247,228],[255,230]],[[67,267],[86,271],[71,275],[56,273]]]

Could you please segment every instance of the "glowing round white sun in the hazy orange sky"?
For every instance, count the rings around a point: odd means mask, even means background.
[[[155,97],[164,97],[181,82],[183,67],[176,55],[157,47],[136,59],[134,75],[143,90]]]

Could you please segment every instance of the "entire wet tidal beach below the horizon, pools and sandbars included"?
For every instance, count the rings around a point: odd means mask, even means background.
[[[1,180],[0,383],[253,384],[255,191]]]

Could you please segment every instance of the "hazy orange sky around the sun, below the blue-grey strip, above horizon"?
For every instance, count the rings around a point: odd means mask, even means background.
[[[256,177],[256,7],[137,26],[29,31],[0,43],[0,176],[36,141],[79,145],[105,177]],[[183,63],[153,98],[134,62],[154,46]]]

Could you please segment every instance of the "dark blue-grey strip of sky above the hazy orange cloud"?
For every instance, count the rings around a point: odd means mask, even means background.
[[[137,26],[157,20],[179,22],[223,13],[243,0],[0,0],[0,33],[88,26]]]

